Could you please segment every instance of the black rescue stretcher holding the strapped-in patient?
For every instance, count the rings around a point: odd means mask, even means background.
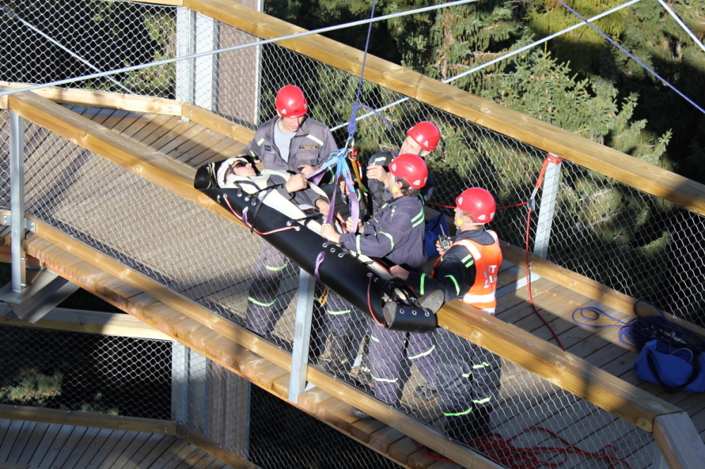
[[[195,189],[226,208],[252,232],[377,324],[406,332],[430,332],[436,328],[434,310],[419,306],[410,289],[392,280],[384,261],[360,256],[321,237],[321,216],[312,217],[283,197],[277,199],[271,188],[257,184],[260,176],[243,178],[242,183],[235,183],[237,187],[219,187],[216,174],[221,163],[198,168]],[[262,175],[266,173],[265,170]],[[393,304],[384,308],[387,301]]]

